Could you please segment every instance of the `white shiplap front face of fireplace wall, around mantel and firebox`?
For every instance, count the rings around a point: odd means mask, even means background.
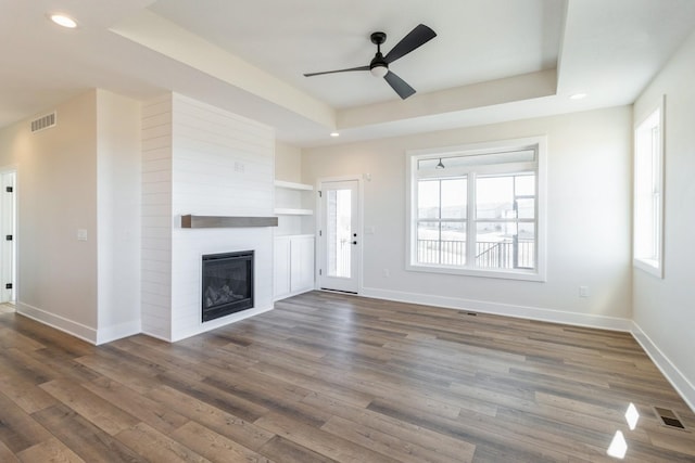
[[[172,340],[273,308],[273,229],[181,229],[180,216],[273,216],[271,128],[174,94]],[[201,322],[201,257],[255,250],[254,309]]]

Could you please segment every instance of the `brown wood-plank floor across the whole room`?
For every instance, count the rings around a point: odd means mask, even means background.
[[[629,334],[330,293],[173,345],[1,313],[0,373],[1,462],[695,461]]]

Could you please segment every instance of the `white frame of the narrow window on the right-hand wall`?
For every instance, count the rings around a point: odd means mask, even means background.
[[[656,114],[658,112],[658,115]],[[633,184],[632,184],[632,265],[634,268],[643,270],[649,274],[653,274],[657,278],[664,278],[664,205],[665,205],[665,157],[666,157],[666,95],[661,95],[656,104],[653,104],[645,111],[639,118],[635,118],[634,131],[633,131]],[[655,218],[650,223],[653,227],[652,233],[654,233],[654,241],[652,242],[652,247],[654,248],[656,256],[650,257],[640,257],[637,256],[637,242],[640,241],[640,224],[637,223],[637,210],[640,209],[640,200],[639,195],[639,169],[640,169],[640,136],[642,130],[653,130],[655,124],[659,130],[659,138],[657,143],[654,145],[656,147],[656,153],[654,151],[650,153],[650,162],[653,166],[656,166],[657,172],[653,173],[653,196],[655,207]],[[656,157],[656,159],[655,159]]]

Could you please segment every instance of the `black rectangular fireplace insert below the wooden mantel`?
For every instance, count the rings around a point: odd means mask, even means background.
[[[204,322],[253,308],[253,250],[203,256]]]

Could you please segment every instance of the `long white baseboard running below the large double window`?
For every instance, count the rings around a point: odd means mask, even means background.
[[[632,321],[617,317],[603,317],[589,313],[565,312],[538,307],[516,306],[510,304],[489,303],[484,300],[464,299],[458,297],[433,296],[430,294],[405,293],[400,291],[364,287],[361,296],[377,299],[396,300],[400,303],[422,304],[447,309],[470,310],[496,316],[516,317],[551,323],[564,323],[576,326],[601,330],[631,332]]]

